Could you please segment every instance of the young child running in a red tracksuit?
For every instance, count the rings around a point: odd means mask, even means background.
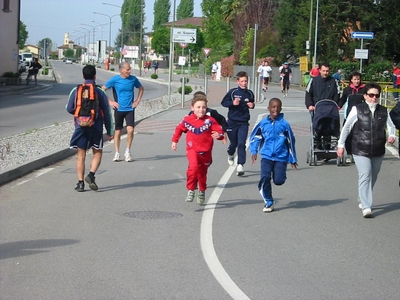
[[[213,138],[222,140],[224,131],[213,117],[206,115],[207,99],[204,96],[196,96],[191,104],[193,114],[185,116],[176,126],[171,148],[176,151],[179,138],[182,133],[186,133],[186,157],[189,161],[186,171],[186,201],[193,201],[198,184],[197,203],[202,205],[207,189],[207,170],[212,163]]]

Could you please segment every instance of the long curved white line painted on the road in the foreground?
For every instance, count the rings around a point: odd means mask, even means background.
[[[204,259],[214,275],[215,279],[219,282],[222,288],[233,298],[240,300],[250,300],[246,294],[236,285],[236,283],[231,279],[228,273],[225,271],[218,256],[215,252],[213,236],[212,236],[212,223],[214,218],[215,207],[218,203],[219,197],[224,190],[225,185],[228,183],[229,178],[235,172],[235,167],[229,167],[225,174],[222,176],[211,194],[208,202],[207,209],[203,211],[203,217],[201,219],[200,225],[200,244],[201,250],[203,252]]]

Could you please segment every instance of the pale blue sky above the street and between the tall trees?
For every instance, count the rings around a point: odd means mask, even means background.
[[[180,0],[176,1],[178,7]],[[201,17],[202,0],[194,0],[194,16]],[[121,9],[116,6],[104,5],[109,3],[122,6],[123,0],[21,0],[21,21],[26,25],[29,33],[26,44],[36,45],[44,38],[50,38],[53,46],[59,47],[64,43],[64,34],[68,32],[70,37],[75,41],[77,36],[83,36],[86,33],[86,42],[88,30],[93,30],[91,26],[81,24],[89,24],[99,26],[105,24],[102,28],[96,28],[95,39],[108,40],[110,19],[107,16],[94,14],[98,12],[109,15],[110,17],[120,14]],[[144,0],[145,8],[145,31],[151,31],[153,27],[154,0]],[[174,0],[171,0],[171,16],[172,21]],[[94,22],[92,22],[94,21]],[[81,26],[85,29],[82,29]],[[111,40],[112,45],[116,35],[121,28],[121,18],[119,16],[112,18],[111,23]],[[74,31],[80,31],[73,33]],[[90,39],[93,39],[93,33],[90,33]],[[83,45],[83,37],[80,44]]]

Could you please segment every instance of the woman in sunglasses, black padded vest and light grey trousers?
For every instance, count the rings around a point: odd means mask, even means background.
[[[395,126],[387,108],[380,105],[381,86],[368,83],[364,89],[364,103],[354,106],[347,116],[340,134],[337,155],[343,157],[347,136],[352,133],[352,154],[358,171],[358,207],[364,218],[371,218],[372,191],[378,178],[387,142],[395,141]]]

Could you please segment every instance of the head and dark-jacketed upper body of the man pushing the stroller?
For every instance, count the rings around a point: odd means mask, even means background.
[[[315,109],[318,101],[329,99],[336,103],[340,98],[340,87],[335,78],[329,75],[330,66],[323,63],[320,68],[320,75],[311,78],[306,89],[305,104],[309,111]]]

